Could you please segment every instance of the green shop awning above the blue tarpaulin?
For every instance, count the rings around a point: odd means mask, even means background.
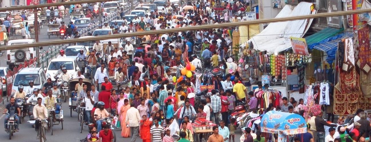
[[[308,47],[311,47],[312,44],[318,43],[326,38],[335,36],[339,34],[341,31],[343,31],[344,28],[338,29],[338,28],[324,28],[321,31],[318,31],[315,34],[312,34],[311,36],[305,37],[306,44]]]

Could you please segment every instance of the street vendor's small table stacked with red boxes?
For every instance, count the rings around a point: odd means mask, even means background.
[[[194,141],[200,142],[200,134],[204,133],[204,136],[206,138],[210,135],[210,133],[213,132],[213,126],[216,126],[216,124],[213,124],[211,121],[207,121],[205,119],[203,120],[196,120],[192,124],[193,132],[194,132]]]

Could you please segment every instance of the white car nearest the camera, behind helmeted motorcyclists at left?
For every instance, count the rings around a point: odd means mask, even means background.
[[[22,68],[13,81],[12,95],[18,91],[18,86],[23,85],[26,90],[28,81],[33,80],[33,85],[36,88],[43,88],[43,84],[46,82],[45,70],[42,68]]]

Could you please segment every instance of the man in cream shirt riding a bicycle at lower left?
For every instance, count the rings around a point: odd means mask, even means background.
[[[40,119],[46,119],[47,118],[47,110],[45,105],[41,104],[42,103],[42,98],[39,97],[37,98],[37,105],[33,107],[33,116],[35,117],[35,130],[39,130],[39,124],[40,124]]]

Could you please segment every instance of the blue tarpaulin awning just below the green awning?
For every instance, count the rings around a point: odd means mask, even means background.
[[[353,37],[353,32],[350,33],[341,33],[336,36],[327,38],[325,40],[322,40],[318,43],[314,43],[311,46],[309,46],[309,49],[317,49],[326,52],[327,58],[326,61],[329,64],[332,64],[332,62],[335,60],[335,54],[336,50],[338,49],[338,42],[341,41],[343,38],[352,38]]]

